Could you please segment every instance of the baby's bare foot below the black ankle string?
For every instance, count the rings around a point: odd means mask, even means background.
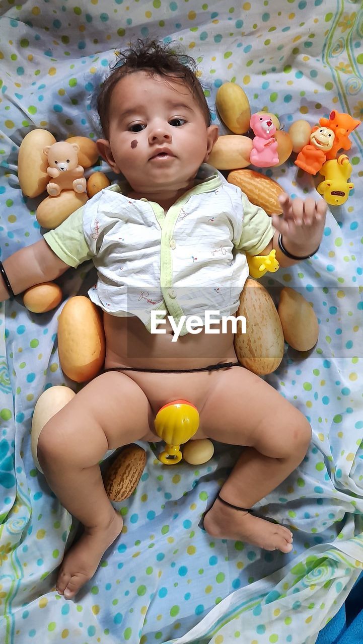
[[[289,553],[293,548],[293,535],[287,527],[226,507],[218,498],[204,516],[203,524],[208,535],[219,539],[236,539],[282,553]]]

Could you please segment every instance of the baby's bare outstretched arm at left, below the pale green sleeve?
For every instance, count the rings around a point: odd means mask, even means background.
[[[35,284],[59,278],[70,268],[43,239],[14,252],[3,261],[3,267],[15,295]],[[5,282],[0,277],[0,301],[8,298]]]

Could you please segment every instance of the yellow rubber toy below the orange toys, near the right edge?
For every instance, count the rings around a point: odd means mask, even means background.
[[[345,204],[349,190],[354,188],[354,184],[348,183],[352,169],[347,155],[340,155],[337,159],[330,159],[324,163],[320,175],[325,176],[325,181],[317,186],[317,191],[327,204]]]

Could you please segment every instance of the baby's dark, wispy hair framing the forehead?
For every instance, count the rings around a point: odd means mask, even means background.
[[[165,44],[157,40],[137,40],[127,50],[117,52],[117,62],[111,68],[110,75],[101,86],[97,97],[97,111],[101,121],[104,135],[108,138],[108,109],[113,88],[127,74],[135,71],[146,71],[150,76],[159,75],[170,79],[182,79],[190,88],[191,95],[199,104],[207,127],[211,124],[211,115],[202,90],[201,83],[197,79],[197,63],[191,56],[178,53],[170,48],[170,43]]]

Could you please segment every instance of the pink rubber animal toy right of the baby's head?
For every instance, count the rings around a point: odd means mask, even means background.
[[[275,125],[268,115],[253,114],[250,120],[255,138],[252,140],[250,162],[257,167],[276,166],[279,163]]]

